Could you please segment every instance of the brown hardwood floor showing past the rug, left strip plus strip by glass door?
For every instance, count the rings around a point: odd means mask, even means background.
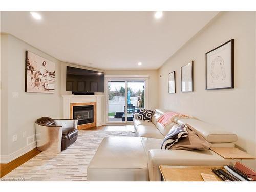
[[[133,125],[103,125],[99,127],[92,127],[86,130],[106,130],[106,131],[134,131]],[[82,130],[81,130],[82,131]],[[34,148],[30,152],[18,157],[7,164],[0,164],[0,178],[10,173],[12,170],[32,159],[36,155],[41,153],[37,148]]]

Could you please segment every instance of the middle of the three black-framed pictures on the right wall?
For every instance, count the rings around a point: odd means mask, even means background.
[[[181,67],[181,92],[193,92],[193,61]]]

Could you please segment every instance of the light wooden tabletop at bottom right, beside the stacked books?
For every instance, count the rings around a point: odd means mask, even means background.
[[[211,169],[223,168],[223,166],[159,166],[162,181],[204,181],[201,173],[212,174],[218,181],[222,181]]]

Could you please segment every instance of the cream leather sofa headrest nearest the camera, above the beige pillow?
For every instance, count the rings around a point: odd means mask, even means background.
[[[222,131],[217,127],[196,119],[180,119],[178,124],[186,124],[191,130],[200,134],[210,143],[231,143],[237,141],[237,135]]]

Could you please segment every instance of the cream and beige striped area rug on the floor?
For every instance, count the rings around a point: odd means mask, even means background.
[[[19,181],[86,181],[87,167],[100,142],[109,136],[135,136],[131,131],[79,131],[78,139],[59,154],[41,152],[1,178]]]

